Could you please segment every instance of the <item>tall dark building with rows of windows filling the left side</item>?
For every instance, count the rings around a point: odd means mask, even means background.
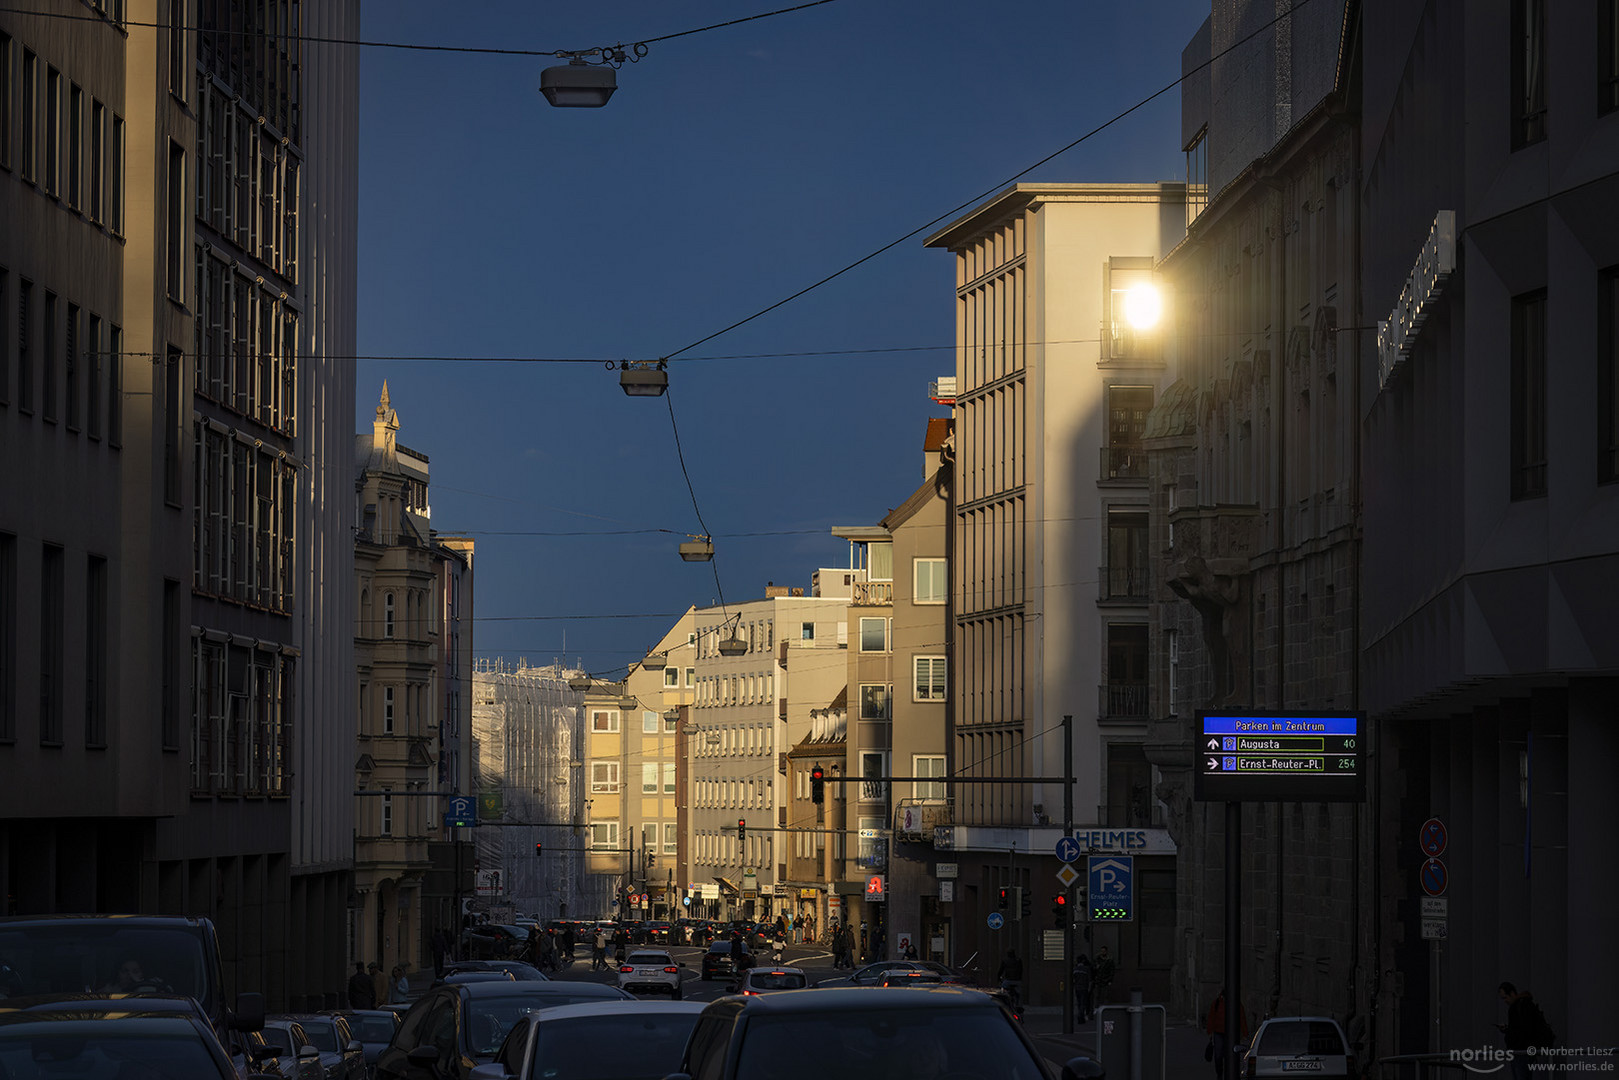
[[[18,912],[212,916],[233,988],[335,1002],[358,94],[309,39],[358,3],[28,6],[0,15],[0,878]]]

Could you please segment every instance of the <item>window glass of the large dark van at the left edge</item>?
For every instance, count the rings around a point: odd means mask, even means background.
[[[112,925],[108,925],[112,923]],[[201,933],[108,921],[0,929],[0,997],[164,993],[212,1007]]]

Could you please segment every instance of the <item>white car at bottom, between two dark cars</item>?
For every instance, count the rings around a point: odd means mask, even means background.
[[[701,1002],[601,1001],[533,1012],[473,1080],[664,1077],[703,1014]]]

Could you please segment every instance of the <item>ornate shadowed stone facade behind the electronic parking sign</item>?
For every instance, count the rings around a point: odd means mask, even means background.
[[[1172,317],[1171,384],[1143,434],[1146,751],[1180,863],[1164,1001],[1198,1017],[1221,991],[1232,873],[1248,1014],[1349,1025],[1370,993],[1357,954],[1375,897],[1368,806],[1243,803],[1229,866],[1226,805],[1193,798],[1200,709],[1358,706],[1355,39],[1342,3],[1264,32],[1273,19],[1216,5],[1183,52],[1187,183],[1209,194],[1158,267]]]

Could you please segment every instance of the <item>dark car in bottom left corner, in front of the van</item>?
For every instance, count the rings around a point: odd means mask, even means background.
[[[0,1014],[0,1077],[128,1075],[236,1080],[243,1074],[214,1036],[207,1012],[186,1001]]]

